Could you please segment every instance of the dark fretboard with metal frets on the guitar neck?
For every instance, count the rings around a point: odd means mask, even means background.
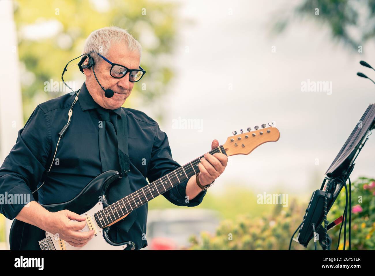
[[[224,147],[219,146],[211,150],[210,154],[214,154],[216,152],[225,154]],[[114,202],[108,207],[103,208],[103,210],[94,214],[96,223],[99,227],[104,228],[121,217],[124,217],[126,214],[130,213],[136,208],[146,204],[151,199],[156,198],[186,179],[189,179],[199,172],[198,164],[202,157],[203,155],[199,156],[182,167],[167,173],[163,177],[151,182],[139,190],[136,190],[130,195],[121,198],[119,201]]]

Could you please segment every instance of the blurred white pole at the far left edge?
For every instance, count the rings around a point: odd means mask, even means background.
[[[22,97],[17,50],[17,31],[13,19],[13,1],[0,1],[0,164],[15,145],[23,127]],[[6,249],[9,249],[11,220],[6,219]]]

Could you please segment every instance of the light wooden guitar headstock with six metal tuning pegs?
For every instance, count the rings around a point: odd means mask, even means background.
[[[249,127],[248,132],[246,133],[242,130],[240,134],[233,131],[233,134],[234,135],[229,136],[223,144],[227,156],[249,154],[263,143],[276,142],[280,138],[280,132],[273,126],[273,123],[269,123],[269,127],[266,127],[266,124],[263,124],[262,128],[259,128],[256,125],[255,130],[253,131],[251,131],[251,128]]]

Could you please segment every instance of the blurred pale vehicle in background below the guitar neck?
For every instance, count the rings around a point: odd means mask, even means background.
[[[181,250],[189,246],[190,235],[215,233],[219,213],[208,209],[174,208],[150,210],[147,216],[146,250]],[[199,237],[198,237],[199,238]]]

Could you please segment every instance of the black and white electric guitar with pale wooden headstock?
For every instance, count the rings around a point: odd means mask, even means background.
[[[223,145],[210,151],[210,154],[221,152],[227,156],[236,154],[249,154],[255,148],[266,142],[276,142],[280,133],[273,124],[255,126],[255,130],[240,134],[236,131],[228,137]],[[237,134],[237,135],[236,135]],[[14,219],[10,229],[11,250],[133,250],[135,244],[132,241],[114,243],[108,235],[108,226],[124,219],[130,212],[142,206],[146,202],[172,189],[191,176],[199,172],[200,157],[185,164],[165,176],[151,182],[147,186],[125,196],[117,202],[107,202],[105,193],[108,186],[120,177],[116,170],[108,170],[96,176],[73,199],[64,203],[42,205],[48,211],[57,212],[70,210],[86,217],[87,226],[81,231],[94,230],[94,237],[83,247],[71,246],[60,239],[55,233],[46,232],[36,226]],[[102,201],[98,202],[101,196]]]

